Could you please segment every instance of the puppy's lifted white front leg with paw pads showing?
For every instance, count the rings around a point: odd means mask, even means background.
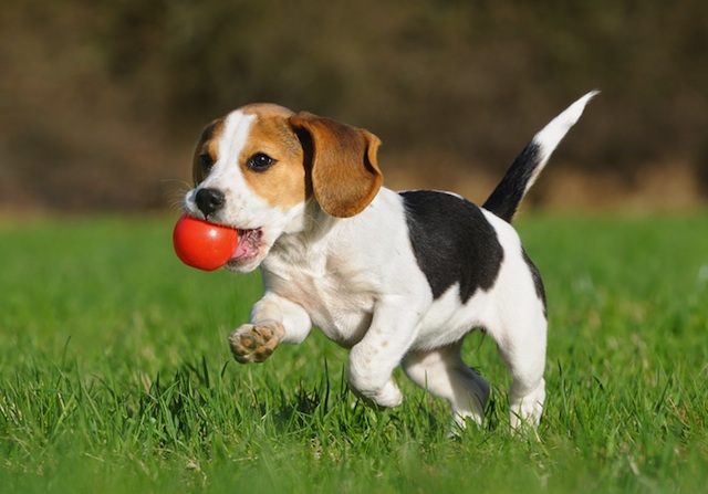
[[[267,293],[251,308],[251,322],[235,329],[229,343],[239,362],[261,362],[281,341],[299,344],[311,329],[312,322],[304,308],[274,293]]]

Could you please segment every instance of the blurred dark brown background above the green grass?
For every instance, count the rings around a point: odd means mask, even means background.
[[[388,187],[480,202],[594,88],[532,206],[708,198],[701,0],[19,0],[0,36],[3,213],[174,208],[201,128],[257,101],[368,128]]]

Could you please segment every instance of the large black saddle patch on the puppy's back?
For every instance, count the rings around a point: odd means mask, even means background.
[[[460,299],[493,286],[503,260],[497,232],[471,202],[445,192],[400,192],[410,244],[435,298],[459,283]]]

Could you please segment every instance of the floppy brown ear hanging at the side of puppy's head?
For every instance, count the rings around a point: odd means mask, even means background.
[[[312,156],[312,190],[322,209],[335,218],[362,212],[383,181],[376,161],[378,137],[310,113],[293,115],[290,124],[301,140],[310,140],[303,147],[312,147],[305,155]]]

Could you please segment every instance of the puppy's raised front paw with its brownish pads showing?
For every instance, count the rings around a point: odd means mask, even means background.
[[[275,320],[244,324],[229,336],[233,358],[241,364],[261,362],[271,356],[284,334],[282,324]]]

